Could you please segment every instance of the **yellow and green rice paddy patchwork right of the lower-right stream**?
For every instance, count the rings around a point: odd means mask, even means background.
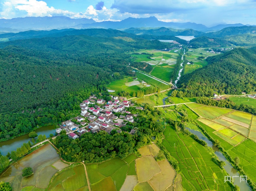
[[[197,105],[192,105],[191,107],[201,108]],[[208,117],[199,118],[197,121],[212,138],[220,141],[221,146],[233,159],[239,157],[240,166],[243,167],[244,172],[255,183],[256,116],[233,110],[225,114],[225,116],[220,116],[213,120]]]

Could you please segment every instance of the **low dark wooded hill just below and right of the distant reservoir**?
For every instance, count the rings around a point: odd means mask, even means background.
[[[209,38],[206,36],[197,37],[189,41],[188,46],[192,46],[192,48],[199,47],[218,47],[218,46],[226,46],[231,45],[228,40],[222,38]]]

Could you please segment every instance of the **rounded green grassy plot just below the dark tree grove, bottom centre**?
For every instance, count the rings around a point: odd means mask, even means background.
[[[124,166],[126,163],[120,158],[112,158],[103,163],[98,164],[99,173],[108,177],[114,174],[119,168]]]

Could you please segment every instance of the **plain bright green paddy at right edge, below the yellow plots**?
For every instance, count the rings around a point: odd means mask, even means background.
[[[240,166],[243,167],[248,179],[256,183],[255,169],[256,169],[256,143],[250,139],[245,140],[228,153],[234,159],[239,157]]]

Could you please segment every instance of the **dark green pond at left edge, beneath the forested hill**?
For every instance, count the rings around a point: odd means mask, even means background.
[[[48,125],[48,126],[43,126],[38,129],[36,129],[37,135],[45,135],[46,137],[49,137],[50,134],[56,132],[55,131],[55,125]],[[35,137],[35,141],[36,141]],[[18,147],[21,147],[23,143],[28,143],[28,141],[31,142],[31,138],[28,137],[28,134],[18,136],[14,139],[10,139],[8,141],[3,141],[0,142],[0,151],[2,155],[7,155],[8,152],[11,153],[11,151],[16,151]]]

